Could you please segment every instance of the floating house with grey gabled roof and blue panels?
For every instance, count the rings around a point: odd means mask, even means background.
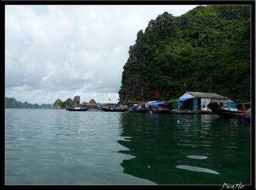
[[[216,102],[225,108],[235,107],[235,102],[225,96],[203,92],[185,92],[177,101],[178,110],[208,110],[207,105],[210,102]]]

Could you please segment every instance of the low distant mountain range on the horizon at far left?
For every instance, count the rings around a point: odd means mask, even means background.
[[[28,102],[17,101],[15,98],[5,97],[5,108],[25,108],[25,109],[52,109],[53,104],[30,104]]]

